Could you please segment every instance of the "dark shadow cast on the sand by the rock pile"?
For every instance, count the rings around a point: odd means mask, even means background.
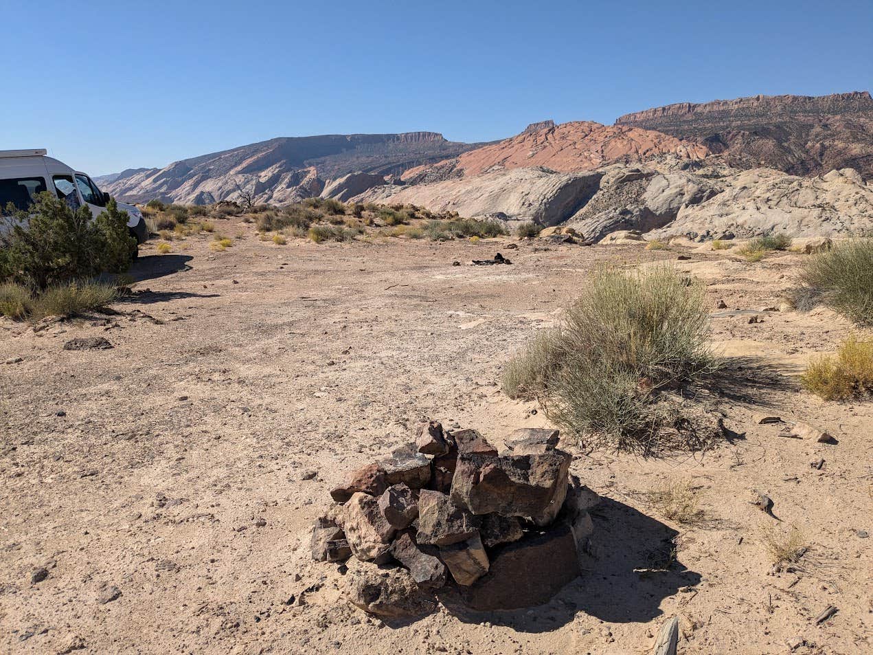
[[[700,575],[672,559],[677,531],[617,500],[603,498],[592,511],[595,557],[588,569],[557,596],[539,607],[512,611],[474,612],[457,594],[440,598],[464,623],[505,625],[521,632],[553,631],[573,621],[577,612],[613,623],[642,623],[659,617],[661,601],[682,587],[700,582]],[[634,569],[661,569],[641,575]]]

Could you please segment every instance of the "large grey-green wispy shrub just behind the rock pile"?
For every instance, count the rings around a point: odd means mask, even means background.
[[[540,399],[572,434],[650,452],[662,428],[677,421],[653,392],[718,369],[707,333],[699,284],[668,267],[603,269],[560,326],[506,366],[503,389]]]

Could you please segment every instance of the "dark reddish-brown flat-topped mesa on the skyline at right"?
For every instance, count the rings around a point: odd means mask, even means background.
[[[615,125],[702,141],[739,168],[798,176],[852,168],[873,177],[873,99],[866,91],[682,102],[626,114]]]

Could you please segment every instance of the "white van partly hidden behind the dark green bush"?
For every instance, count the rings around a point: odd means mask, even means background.
[[[26,210],[42,191],[54,191],[58,197],[68,197],[86,205],[93,217],[106,209],[109,194],[103,193],[93,180],[65,163],[46,156],[43,148],[33,150],[0,150],[0,209],[8,203]],[[69,197],[70,194],[74,194]],[[137,245],[148,238],[148,228],[142,212],[132,204],[118,203],[127,211],[127,229]]]

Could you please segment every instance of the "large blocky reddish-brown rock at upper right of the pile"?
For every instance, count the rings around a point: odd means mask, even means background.
[[[516,457],[461,454],[451,499],[473,514],[554,518],[567,493],[570,460],[558,450]]]

